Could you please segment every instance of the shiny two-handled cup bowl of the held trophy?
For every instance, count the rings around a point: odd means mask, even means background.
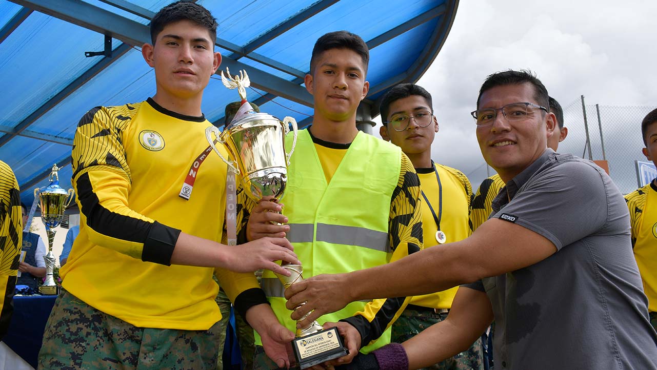
[[[294,132],[289,153],[285,151],[285,136],[290,132],[288,125],[292,125]],[[208,127],[206,138],[215,153],[240,175],[246,195],[257,202],[263,197],[278,199],[283,195],[297,131],[296,121],[292,117],[281,121],[267,113],[251,113],[231,123],[223,132],[214,126]],[[225,146],[230,159],[217,150],[212,133],[217,137],[217,142]]]

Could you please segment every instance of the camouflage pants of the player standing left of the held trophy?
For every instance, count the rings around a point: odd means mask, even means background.
[[[64,289],[48,318],[39,369],[215,369],[219,323],[208,330],[135,327]]]

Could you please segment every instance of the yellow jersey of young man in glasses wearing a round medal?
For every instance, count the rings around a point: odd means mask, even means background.
[[[429,199],[431,208],[440,218],[440,230],[445,233],[446,243],[463,240],[470,236],[470,203],[472,201],[472,186],[468,178],[459,170],[443,165],[435,165],[430,169],[415,169],[420,177],[422,192]],[[440,178],[440,187],[438,186]],[[442,212],[440,211],[440,191],[442,190]],[[422,235],[424,247],[438,244],[436,232],[438,226],[429,207],[422,202]],[[439,216],[440,215],[440,216]],[[430,295],[413,297],[410,304],[428,308],[451,308],[452,301],[459,287]]]

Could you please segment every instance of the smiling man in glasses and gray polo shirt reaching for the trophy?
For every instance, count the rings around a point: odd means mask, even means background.
[[[467,348],[494,318],[496,370],[657,369],[625,201],[599,167],[547,148],[556,123],[547,106],[531,73],[490,75],[472,114],[482,154],[507,186],[489,220],[463,241],[294,284],[288,308],[307,303],[292,318],[466,283],[445,321],[352,366],[435,363]]]

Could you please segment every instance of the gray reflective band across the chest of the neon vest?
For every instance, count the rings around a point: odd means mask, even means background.
[[[313,241],[313,224],[289,224],[290,231],[286,237],[290,243],[311,243]],[[331,244],[357,245],[390,252],[388,233],[359,228],[356,226],[341,226],[317,224],[317,241]]]

